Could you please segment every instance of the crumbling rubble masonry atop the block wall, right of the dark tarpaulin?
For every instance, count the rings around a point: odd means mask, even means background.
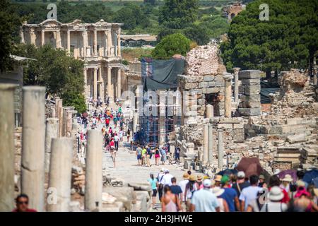
[[[198,46],[187,54],[186,61],[189,76],[217,75],[220,64],[218,46],[216,44]]]

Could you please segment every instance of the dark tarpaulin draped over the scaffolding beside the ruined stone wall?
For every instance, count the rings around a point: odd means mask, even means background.
[[[184,59],[152,60],[153,74],[147,76],[144,90],[177,88],[177,75],[184,72]]]

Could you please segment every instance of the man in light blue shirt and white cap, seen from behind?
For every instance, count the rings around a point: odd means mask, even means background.
[[[211,191],[211,180],[205,179],[204,189],[194,192],[191,198],[190,212],[220,212],[218,199]]]

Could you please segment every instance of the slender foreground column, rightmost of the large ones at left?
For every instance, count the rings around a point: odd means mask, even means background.
[[[102,132],[88,130],[85,177],[85,209],[102,206]]]

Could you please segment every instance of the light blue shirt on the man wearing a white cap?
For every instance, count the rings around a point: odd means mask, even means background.
[[[195,212],[216,212],[219,206],[216,195],[207,189],[194,191],[191,203],[194,204]]]

